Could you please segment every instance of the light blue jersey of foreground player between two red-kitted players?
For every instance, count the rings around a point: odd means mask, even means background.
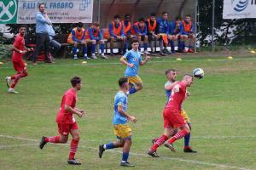
[[[114,104],[113,104],[113,110],[114,110],[114,115],[113,115],[113,124],[125,124],[128,122],[127,117],[121,115],[118,112],[118,105],[121,105],[123,107],[124,111],[127,111],[127,105],[128,105],[128,97],[127,95],[119,91],[117,94],[114,96]]]

